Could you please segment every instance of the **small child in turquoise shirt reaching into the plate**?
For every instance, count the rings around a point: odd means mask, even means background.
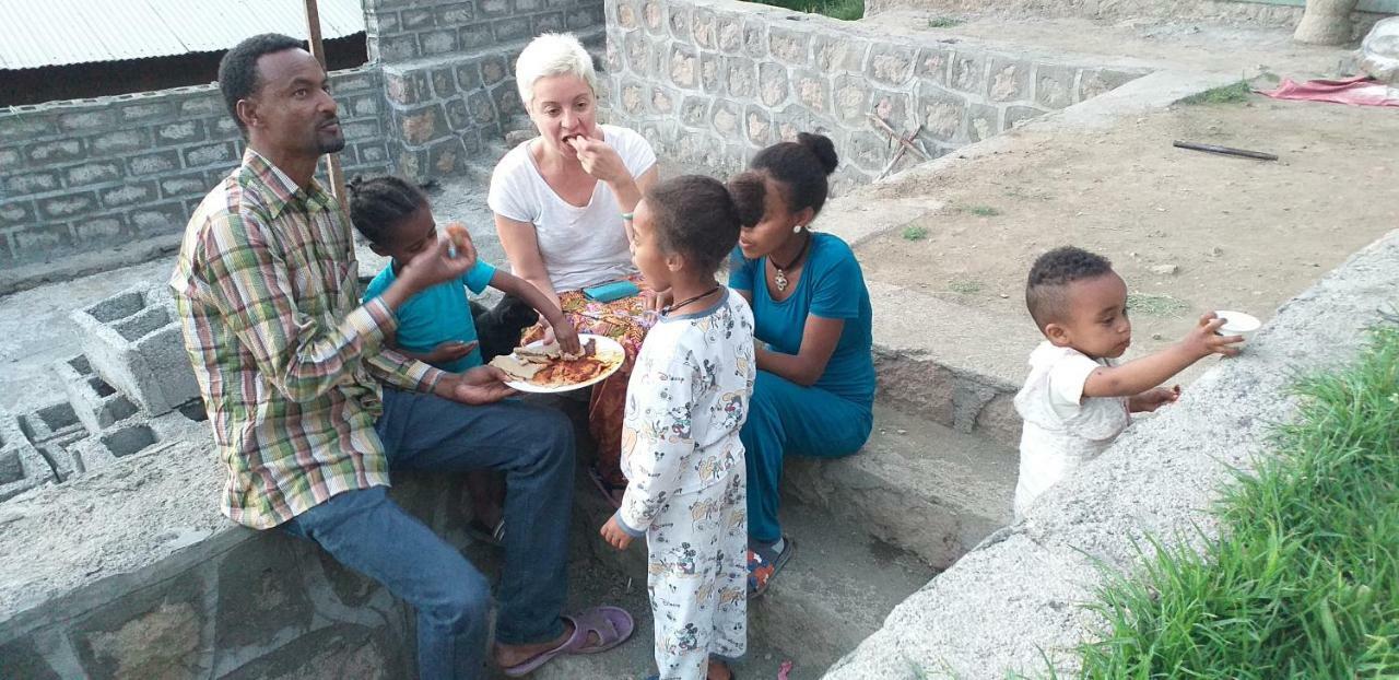
[[[364,292],[364,299],[368,301],[381,295],[409,260],[436,241],[436,221],[427,194],[400,178],[355,178],[348,186],[350,221],[369,241],[371,250],[393,259],[369,281]],[[459,257],[476,257],[469,241],[463,246],[467,252],[459,252]],[[487,285],[525,301],[548,319],[562,351],[581,351],[578,332],[564,319],[564,312],[557,305],[529,281],[499,271],[483,260],[476,260],[460,280],[434,285],[400,305],[396,313],[399,329],[390,340],[392,347],[443,371],[462,372],[481,365],[466,288],[480,294]],[[505,529],[499,484],[488,472],[470,473],[466,483],[476,507],[471,529],[487,541],[499,544]]]

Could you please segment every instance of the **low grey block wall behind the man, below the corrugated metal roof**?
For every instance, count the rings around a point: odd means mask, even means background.
[[[383,169],[379,73],[332,74],[348,168]],[[0,267],[176,235],[242,154],[217,85],[0,112]]]

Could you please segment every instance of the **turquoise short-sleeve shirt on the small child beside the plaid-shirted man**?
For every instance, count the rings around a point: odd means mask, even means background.
[[[471,320],[471,308],[466,302],[466,290],[480,294],[495,276],[495,267],[484,260],[476,260],[462,278],[439,283],[417,295],[413,295],[399,306],[399,332],[395,344],[411,353],[429,353],[436,346],[452,340],[462,343],[476,341],[476,322]],[[379,276],[369,281],[364,291],[364,299],[376,298],[393,284],[393,264],[383,267]],[[481,365],[481,350],[473,348],[470,354],[456,361],[436,365],[443,371],[459,374],[473,367]]]

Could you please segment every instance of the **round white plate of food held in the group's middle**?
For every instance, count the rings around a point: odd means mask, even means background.
[[[627,358],[617,340],[607,336],[582,333],[578,336],[583,351],[576,357],[564,354],[557,344],[543,340],[516,347],[512,354],[491,360],[491,365],[511,376],[505,385],[520,392],[569,392],[602,382],[621,368]]]

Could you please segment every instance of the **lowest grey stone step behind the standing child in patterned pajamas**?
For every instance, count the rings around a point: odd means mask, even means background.
[[[618,553],[597,529],[610,507],[581,477],[569,562],[572,607],[600,602],[637,617],[634,639],[597,656],[551,662],[536,679],[641,679],[655,670],[646,599],[646,547]],[[922,588],[936,569],[916,555],[870,537],[862,526],[792,502],[783,526],[796,554],[762,597],[748,602],[748,653],[734,667],[743,677],[775,677],[783,660],[792,677],[816,677],[879,630],[895,604]]]

